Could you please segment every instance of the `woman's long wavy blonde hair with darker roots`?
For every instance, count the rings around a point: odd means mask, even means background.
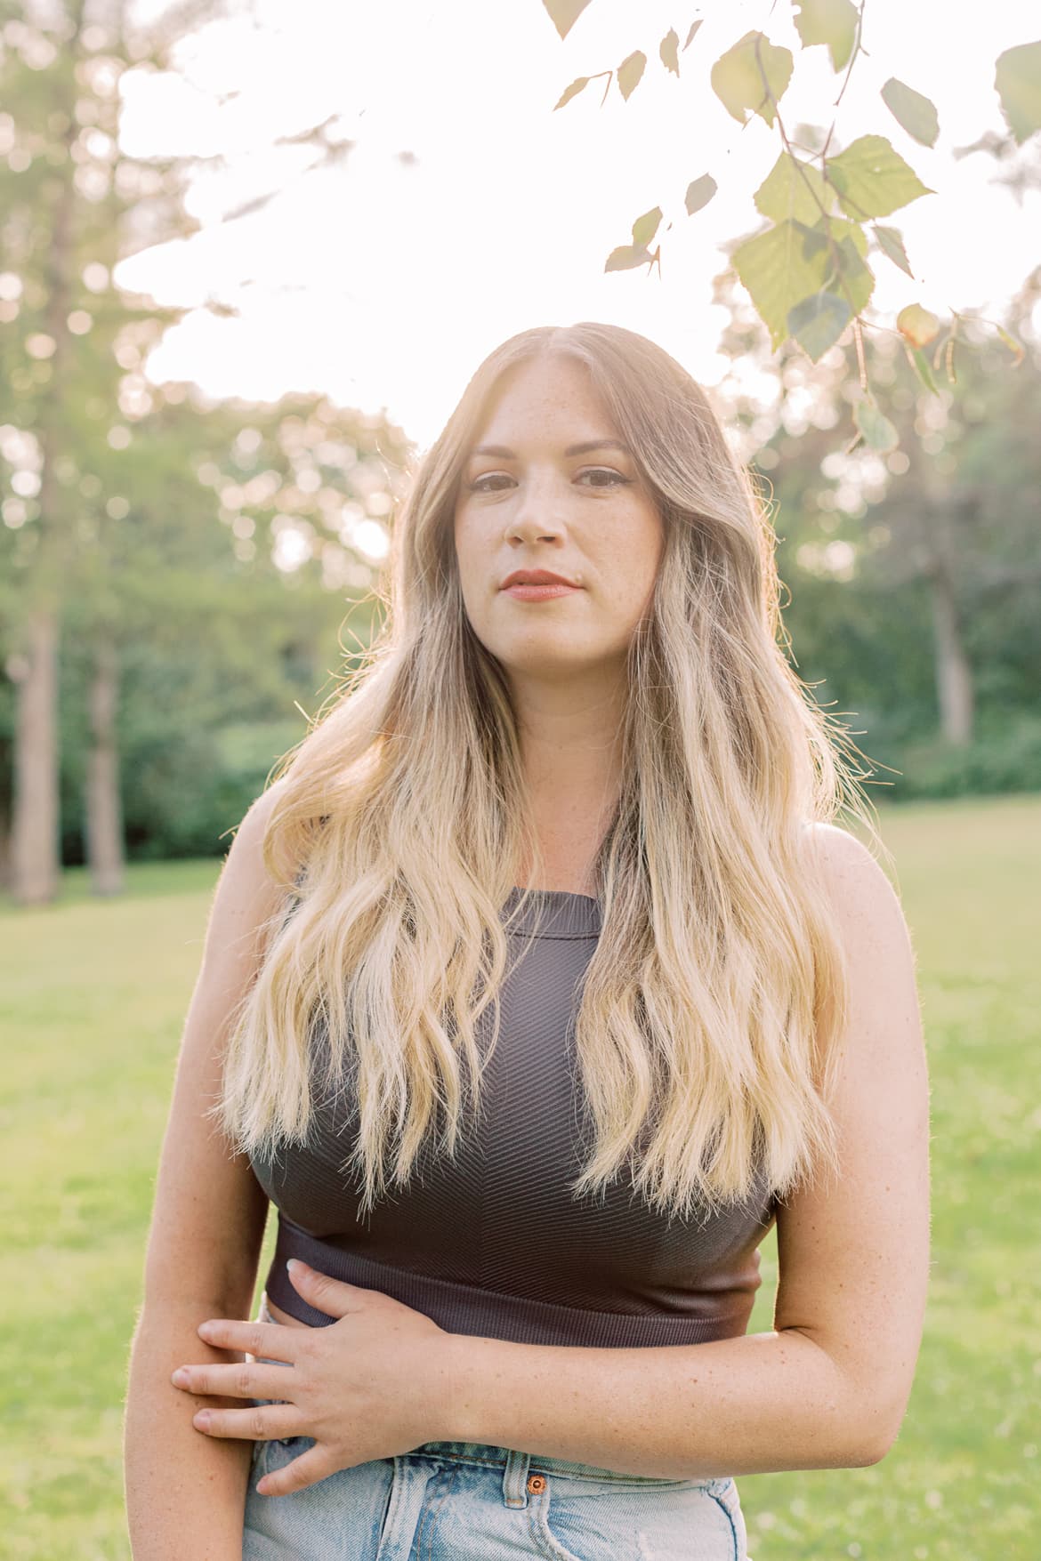
[[[506,340],[418,462],[382,626],[276,766],[264,860],[286,898],[261,929],[211,1115],[236,1152],[304,1144],[323,1024],[325,1083],[353,1068],[342,1169],[361,1172],[368,1210],[390,1168],[407,1182],[428,1133],[454,1155],[467,1104],[481,1110],[512,868],[531,862],[538,884],[543,859],[509,685],[464,609],[453,518],[499,378],[543,353],[588,367],[665,524],[595,863],[601,935],[574,1027],[595,1136],[571,1191],[602,1191],[627,1163],[648,1204],[682,1218],[746,1199],[757,1174],[783,1197],[838,1171],[827,1101],[847,982],[813,826],[846,810],[877,832],[846,757],[858,749],[779,643],[766,501],[702,387],[613,325]],[[524,890],[517,913],[538,904]]]

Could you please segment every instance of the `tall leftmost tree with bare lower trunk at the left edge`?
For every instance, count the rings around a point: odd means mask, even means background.
[[[70,553],[78,529],[105,517],[98,457],[108,460],[130,439],[126,403],[133,407],[142,392],[126,384],[133,375],[125,370],[136,367],[148,332],[179,318],[120,297],[111,272],[142,223],[169,236],[190,231],[190,223],[181,172],[173,164],[145,167],[119,150],[117,84],[131,62],[122,0],[89,16],[86,0],[69,0],[67,8],[3,5],[0,14],[9,140],[0,162],[0,454],[20,478],[17,496],[3,504],[6,671],[17,707],[9,871],[17,898],[33,904],[53,898],[59,868],[58,654]],[[183,20],[200,14],[200,6],[179,12]],[[155,58],[164,47],[155,42]],[[98,649],[98,667],[111,668],[106,648]],[[94,712],[106,743],[111,698],[103,690]],[[105,762],[95,784],[103,774]],[[111,827],[105,838],[111,841]]]

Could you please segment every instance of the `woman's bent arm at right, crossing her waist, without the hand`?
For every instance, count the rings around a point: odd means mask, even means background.
[[[710,1478],[879,1463],[901,1428],[929,1285],[929,1077],[915,954],[888,877],[818,826],[847,952],[841,1177],[777,1216],[774,1332],[666,1349],[453,1336],[453,1424],[620,1472]]]

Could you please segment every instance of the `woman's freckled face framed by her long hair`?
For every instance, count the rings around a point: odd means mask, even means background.
[[[663,546],[659,507],[573,357],[499,381],[462,470],[454,540],[467,617],[510,673],[557,679],[624,667]],[[599,450],[571,446],[604,442]],[[496,448],[484,448],[496,446]],[[542,601],[503,590],[515,570],[581,588]]]

